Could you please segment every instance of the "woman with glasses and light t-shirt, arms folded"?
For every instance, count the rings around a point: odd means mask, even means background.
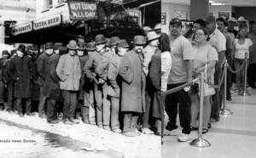
[[[218,62],[218,53],[215,48],[207,43],[209,34],[206,28],[201,27],[195,31],[195,45],[192,46],[194,56],[194,71],[193,77],[200,76],[201,72],[205,71],[207,65],[207,79],[213,81],[215,65]],[[197,130],[196,117],[198,116],[200,107],[199,82],[196,82],[190,87],[189,96],[191,99],[191,123],[192,131]],[[203,124],[202,133],[208,132],[208,121],[211,115],[210,95],[204,97],[203,107]]]

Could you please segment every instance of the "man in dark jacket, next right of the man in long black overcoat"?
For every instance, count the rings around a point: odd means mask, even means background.
[[[38,104],[38,116],[41,118],[46,118],[45,115],[45,99],[43,95],[44,81],[45,81],[45,72],[47,70],[49,56],[54,53],[54,44],[52,42],[45,43],[45,51],[43,54],[40,54],[38,57],[38,85],[40,89],[40,97]]]

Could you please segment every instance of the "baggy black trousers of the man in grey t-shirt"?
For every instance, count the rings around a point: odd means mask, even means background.
[[[168,84],[167,90],[179,87],[184,83]],[[190,121],[191,121],[191,102],[189,99],[189,93],[185,92],[183,89],[166,95],[166,114],[169,116],[169,122],[167,126],[172,129],[176,129],[177,125],[177,104],[178,115],[180,120],[180,125],[183,127],[182,133],[190,133]]]

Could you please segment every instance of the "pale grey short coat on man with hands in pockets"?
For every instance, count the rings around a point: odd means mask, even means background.
[[[61,55],[61,58],[56,68],[56,73],[61,79],[61,90],[79,91],[81,66],[79,57],[77,55]]]

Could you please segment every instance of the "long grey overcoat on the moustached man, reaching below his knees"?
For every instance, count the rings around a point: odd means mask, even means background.
[[[121,110],[144,112],[146,76],[143,55],[134,50],[127,52],[121,59],[119,75],[122,76]]]

